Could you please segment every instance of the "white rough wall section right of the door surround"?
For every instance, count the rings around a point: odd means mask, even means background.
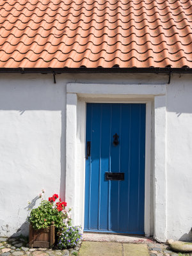
[[[166,96],[167,238],[191,240],[192,76],[175,76]]]

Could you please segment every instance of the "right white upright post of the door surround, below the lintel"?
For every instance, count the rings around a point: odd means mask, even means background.
[[[166,241],[166,96],[156,96],[154,157],[154,238]]]

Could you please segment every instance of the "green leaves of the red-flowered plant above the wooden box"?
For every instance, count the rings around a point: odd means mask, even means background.
[[[28,221],[31,223],[33,228],[47,228],[54,221],[56,228],[63,227],[63,212],[58,211],[51,202],[42,200],[40,206],[36,209],[32,209]]]

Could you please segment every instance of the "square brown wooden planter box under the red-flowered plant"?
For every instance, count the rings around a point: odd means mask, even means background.
[[[54,245],[54,225],[49,228],[34,229],[29,225],[29,247],[51,248]]]

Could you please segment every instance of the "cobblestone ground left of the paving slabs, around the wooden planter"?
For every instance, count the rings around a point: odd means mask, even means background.
[[[29,248],[28,241],[22,237],[6,239],[0,237],[1,256],[70,256],[78,255],[79,246],[70,250]]]

